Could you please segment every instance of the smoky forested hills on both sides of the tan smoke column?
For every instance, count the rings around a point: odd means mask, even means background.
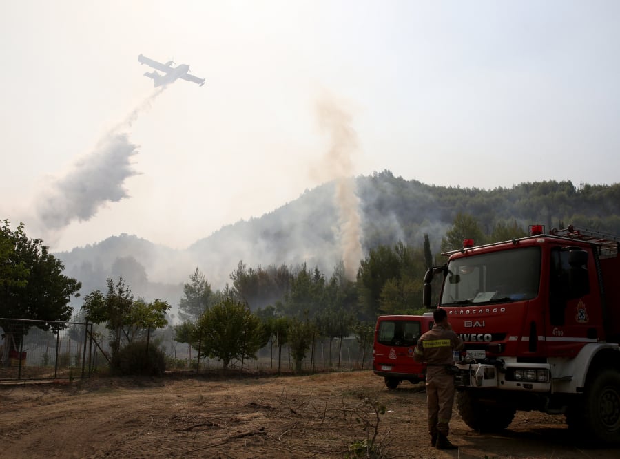
[[[423,256],[424,235],[428,235],[428,250],[437,255],[458,215],[477,225],[483,239],[501,237],[505,231],[498,228],[526,231],[533,223],[547,228],[572,223],[620,233],[620,184],[575,186],[550,180],[492,190],[464,189],[404,180],[384,171],[359,177],[356,185],[362,267],[371,255],[380,255],[377,249],[382,247],[400,256],[403,266],[417,264],[409,258]],[[121,235],[57,256],[68,275],[82,282],[83,294],[104,288],[107,277],[123,277],[136,295],[166,299],[173,308],[183,296],[183,283],[196,268],[216,290],[232,286],[239,275],[276,272],[282,266],[286,272],[298,273],[305,264],[309,272],[316,268],[329,279],[342,261],[334,195],[335,184],[323,184],[260,218],[225,226],[185,250]],[[400,252],[396,244],[402,244]],[[415,276],[419,276],[417,270]],[[404,287],[398,288],[402,296]],[[415,297],[418,287],[408,288],[410,295],[405,296]],[[276,296],[281,295],[282,285],[278,292]],[[254,308],[273,301],[275,294],[257,295]]]

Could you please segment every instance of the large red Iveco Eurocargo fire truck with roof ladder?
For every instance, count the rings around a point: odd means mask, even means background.
[[[517,410],[565,414],[581,438],[620,442],[620,237],[569,226],[445,253],[439,305],[465,341],[457,408],[477,430]],[[437,307],[435,305],[434,307]]]

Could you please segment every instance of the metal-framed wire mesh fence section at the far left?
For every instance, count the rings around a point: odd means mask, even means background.
[[[92,323],[0,318],[0,381],[83,378],[94,365]]]

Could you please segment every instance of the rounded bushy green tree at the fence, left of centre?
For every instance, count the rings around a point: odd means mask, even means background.
[[[196,329],[207,354],[220,359],[224,368],[233,360],[243,365],[244,359],[256,359],[256,352],[266,343],[260,319],[244,303],[231,298],[206,310]]]

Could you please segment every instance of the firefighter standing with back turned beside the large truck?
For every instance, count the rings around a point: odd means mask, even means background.
[[[448,424],[454,403],[453,351],[462,350],[464,343],[452,331],[446,310],[433,312],[435,325],[417,341],[413,356],[426,363],[426,403],[428,405],[428,432],[431,446],[437,449],[455,449],[448,440]]]

